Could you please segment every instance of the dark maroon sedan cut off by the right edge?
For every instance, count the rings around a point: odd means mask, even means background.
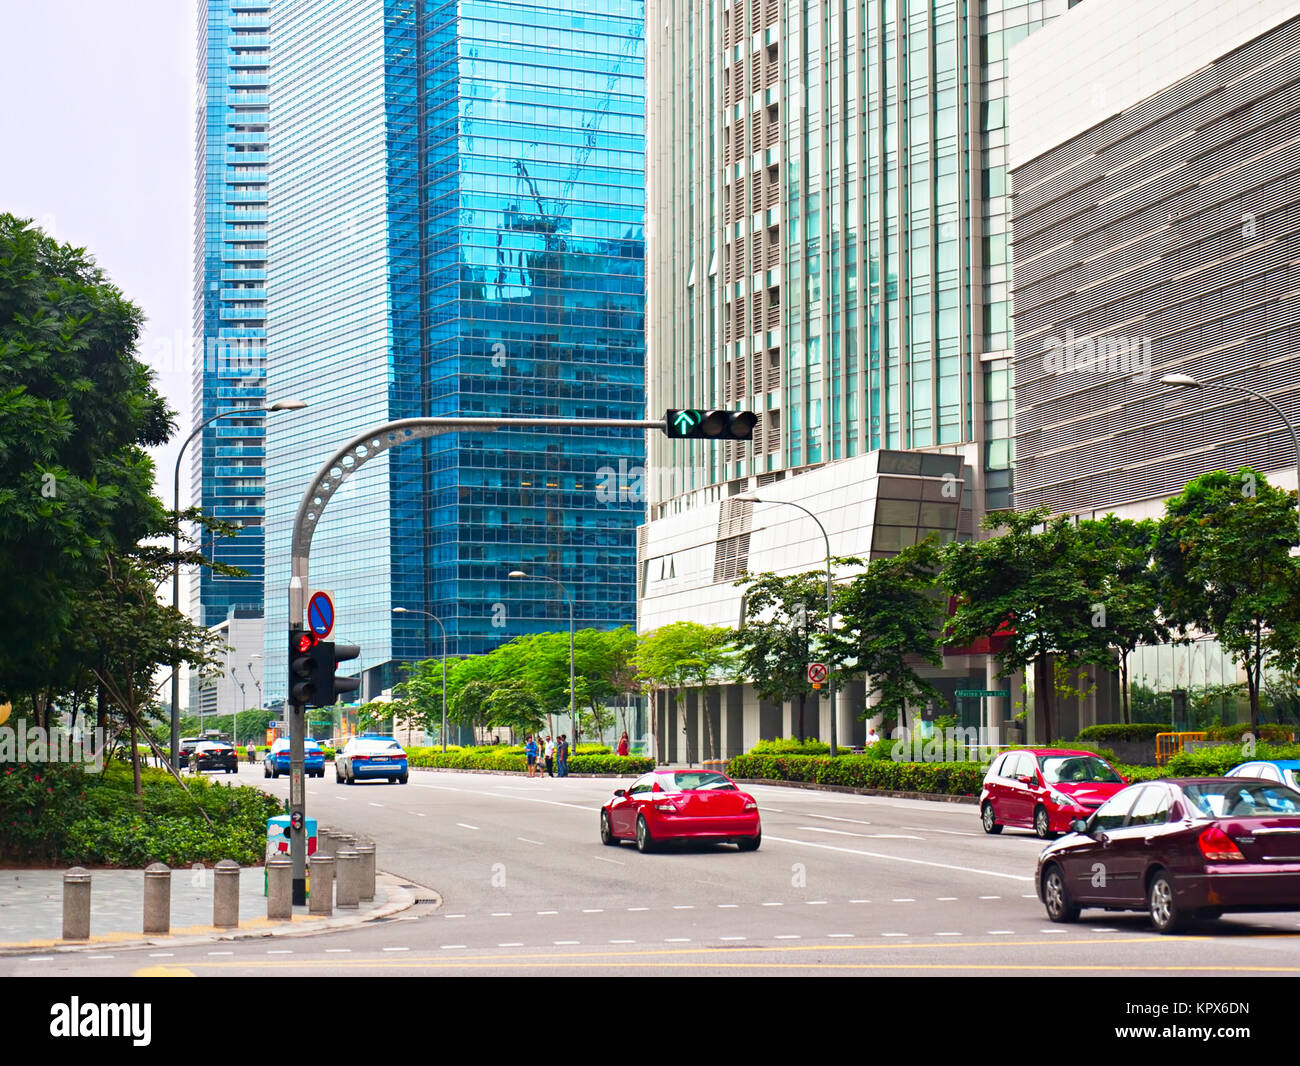
[[[1300,792],[1248,777],[1130,785],[1043,849],[1053,922],[1145,910],[1158,932],[1226,911],[1300,910]]]

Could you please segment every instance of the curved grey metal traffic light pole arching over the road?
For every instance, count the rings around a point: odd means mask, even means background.
[[[500,429],[582,429],[606,426],[659,429],[668,433],[666,419],[400,419],[367,430],[335,451],[316,472],[294,517],[292,558],[289,578],[289,632],[307,632],[307,597],[311,586],[312,534],[330,498],[367,462],[389,448],[438,437],[443,433],[495,433]],[[671,434],[670,434],[671,436]],[[289,692],[289,855],[292,861],[294,904],[307,902],[307,705]]]

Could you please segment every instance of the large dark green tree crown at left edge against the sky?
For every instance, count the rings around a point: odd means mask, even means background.
[[[0,693],[79,668],[70,630],[107,554],[156,533],[152,463],[170,413],[134,356],[140,311],[83,250],[0,214]]]

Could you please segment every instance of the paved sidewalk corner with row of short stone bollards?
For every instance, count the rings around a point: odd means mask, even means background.
[[[239,871],[239,926],[212,924],[212,881],[208,870],[172,871],[172,935],[146,936],[144,872],[140,870],[92,870],[90,940],[61,940],[64,870],[0,870],[0,956],[34,949],[77,950],[83,948],[186,944],[255,936],[294,936],[360,926],[412,906],[416,897],[434,896],[390,874],[378,874],[374,900],[355,911],[334,910],[333,916],[308,914],[294,907],[290,922],[266,919],[263,867]]]

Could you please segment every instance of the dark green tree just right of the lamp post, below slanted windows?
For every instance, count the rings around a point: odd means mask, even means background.
[[[859,559],[845,563],[862,566]],[[901,719],[907,701],[940,699],[916,672],[916,663],[944,664],[939,634],[945,602],[937,589],[939,547],[932,541],[897,555],[874,559],[850,582],[836,589],[833,655],[845,677],[864,675],[867,696],[879,693],[879,710]],[[859,718],[875,714],[864,707]]]

